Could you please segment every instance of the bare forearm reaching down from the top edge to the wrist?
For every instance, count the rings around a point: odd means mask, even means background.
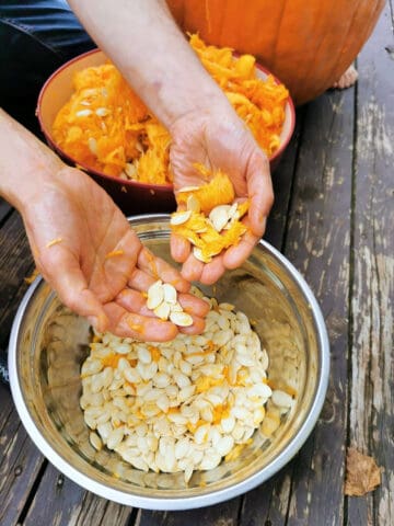
[[[189,112],[227,104],[164,1],[69,3],[97,45],[167,128]]]

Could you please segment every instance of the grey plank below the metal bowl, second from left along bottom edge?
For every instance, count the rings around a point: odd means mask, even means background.
[[[131,507],[85,491],[48,464],[24,518],[24,526],[124,526]]]

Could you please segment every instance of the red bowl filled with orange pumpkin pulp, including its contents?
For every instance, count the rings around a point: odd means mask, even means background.
[[[294,128],[286,87],[251,55],[189,44],[269,158],[279,161]],[[127,214],[173,211],[171,136],[103,52],[93,49],[44,84],[37,117],[51,148],[89,173]]]

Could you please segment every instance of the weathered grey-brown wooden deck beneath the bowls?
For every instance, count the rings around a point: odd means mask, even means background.
[[[393,5],[392,5],[393,7]],[[0,524],[102,526],[385,526],[394,524],[394,38],[389,2],[358,57],[359,82],[299,108],[274,174],[266,239],[322,307],[332,371],[318,423],[276,477],[188,512],[121,506],[84,491],[33,445],[0,386]],[[0,203],[0,347],[33,261],[19,215]],[[371,455],[381,485],[344,495],[346,448]]]

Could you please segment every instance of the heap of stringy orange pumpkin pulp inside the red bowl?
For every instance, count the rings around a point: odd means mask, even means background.
[[[190,46],[270,157],[280,145],[289,93],[273,77],[256,76],[251,55],[234,58],[232,49],[206,46],[190,36]],[[78,165],[149,184],[171,184],[169,132],[130,89],[113,64],[74,75],[74,92],[56,116],[55,142]],[[201,197],[201,209],[205,209]]]

